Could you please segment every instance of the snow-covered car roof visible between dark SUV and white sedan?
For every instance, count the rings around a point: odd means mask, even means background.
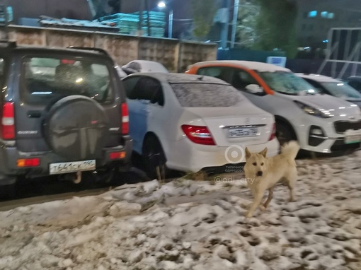
[[[125,78],[125,76],[138,73],[138,72],[161,72],[169,73],[168,69],[164,65],[156,61],[147,61],[147,60],[134,60],[130,61],[128,64],[122,66],[118,71],[120,78]]]

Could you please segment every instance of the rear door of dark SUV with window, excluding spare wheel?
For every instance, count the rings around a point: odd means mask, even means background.
[[[64,54],[65,55],[65,54]],[[120,95],[116,90],[112,61],[106,57],[64,57],[51,51],[20,55],[19,78],[14,78],[16,100],[16,143],[19,151],[50,151],[43,134],[47,112],[58,100],[69,95],[85,95],[96,100],[110,119],[110,134],[106,146],[120,145]],[[18,86],[16,87],[16,85]]]

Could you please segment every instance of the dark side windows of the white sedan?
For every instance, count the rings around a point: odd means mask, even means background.
[[[132,100],[149,100],[153,104],[164,105],[164,93],[161,83],[155,78],[140,78],[130,91],[128,98]]]

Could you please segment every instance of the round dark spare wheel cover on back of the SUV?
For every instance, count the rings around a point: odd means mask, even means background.
[[[101,158],[109,131],[103,107],[83,95],[70,95],[50,108],[44,135],[52,151],[69,161]]]

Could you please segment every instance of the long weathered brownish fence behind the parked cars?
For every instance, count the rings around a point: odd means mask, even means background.
[[[184,72],[197,61],[217,59],[217,45],[113,33],[8,26],[8,38],[18,45],[98,47],[120,65],[134,59],[158,61],[173,72]]]

